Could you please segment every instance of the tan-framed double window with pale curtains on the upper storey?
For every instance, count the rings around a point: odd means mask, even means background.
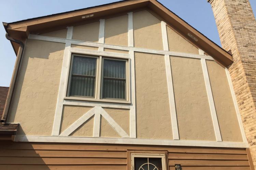
[[[127,101],[127,80],[128,60],[73,54],[67,96]]]

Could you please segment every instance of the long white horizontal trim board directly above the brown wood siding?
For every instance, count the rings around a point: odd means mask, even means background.
[[[243,142],[216,142],[216,141],[191,141],[191,140],[186,141],[186,140],[101,138],[101,137],[69,137],[69,136],[16,135],[14,138],[14,141],[16,141],[16,142],[104,143],[104,144],[248,148],[248,144],[243,143]]]

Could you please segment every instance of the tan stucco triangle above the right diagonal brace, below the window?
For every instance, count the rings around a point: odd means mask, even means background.
[[[130,134],[130,109],[103,108],[112,119],[129,135]]]

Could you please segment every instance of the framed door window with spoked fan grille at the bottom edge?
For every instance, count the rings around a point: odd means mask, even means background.
[[[166,170],[165,154],[131,153],[131,170]]]

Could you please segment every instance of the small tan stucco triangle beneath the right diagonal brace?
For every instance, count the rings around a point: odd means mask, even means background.
[[[100,137],[121,137],[103,116],[100,117]]]

